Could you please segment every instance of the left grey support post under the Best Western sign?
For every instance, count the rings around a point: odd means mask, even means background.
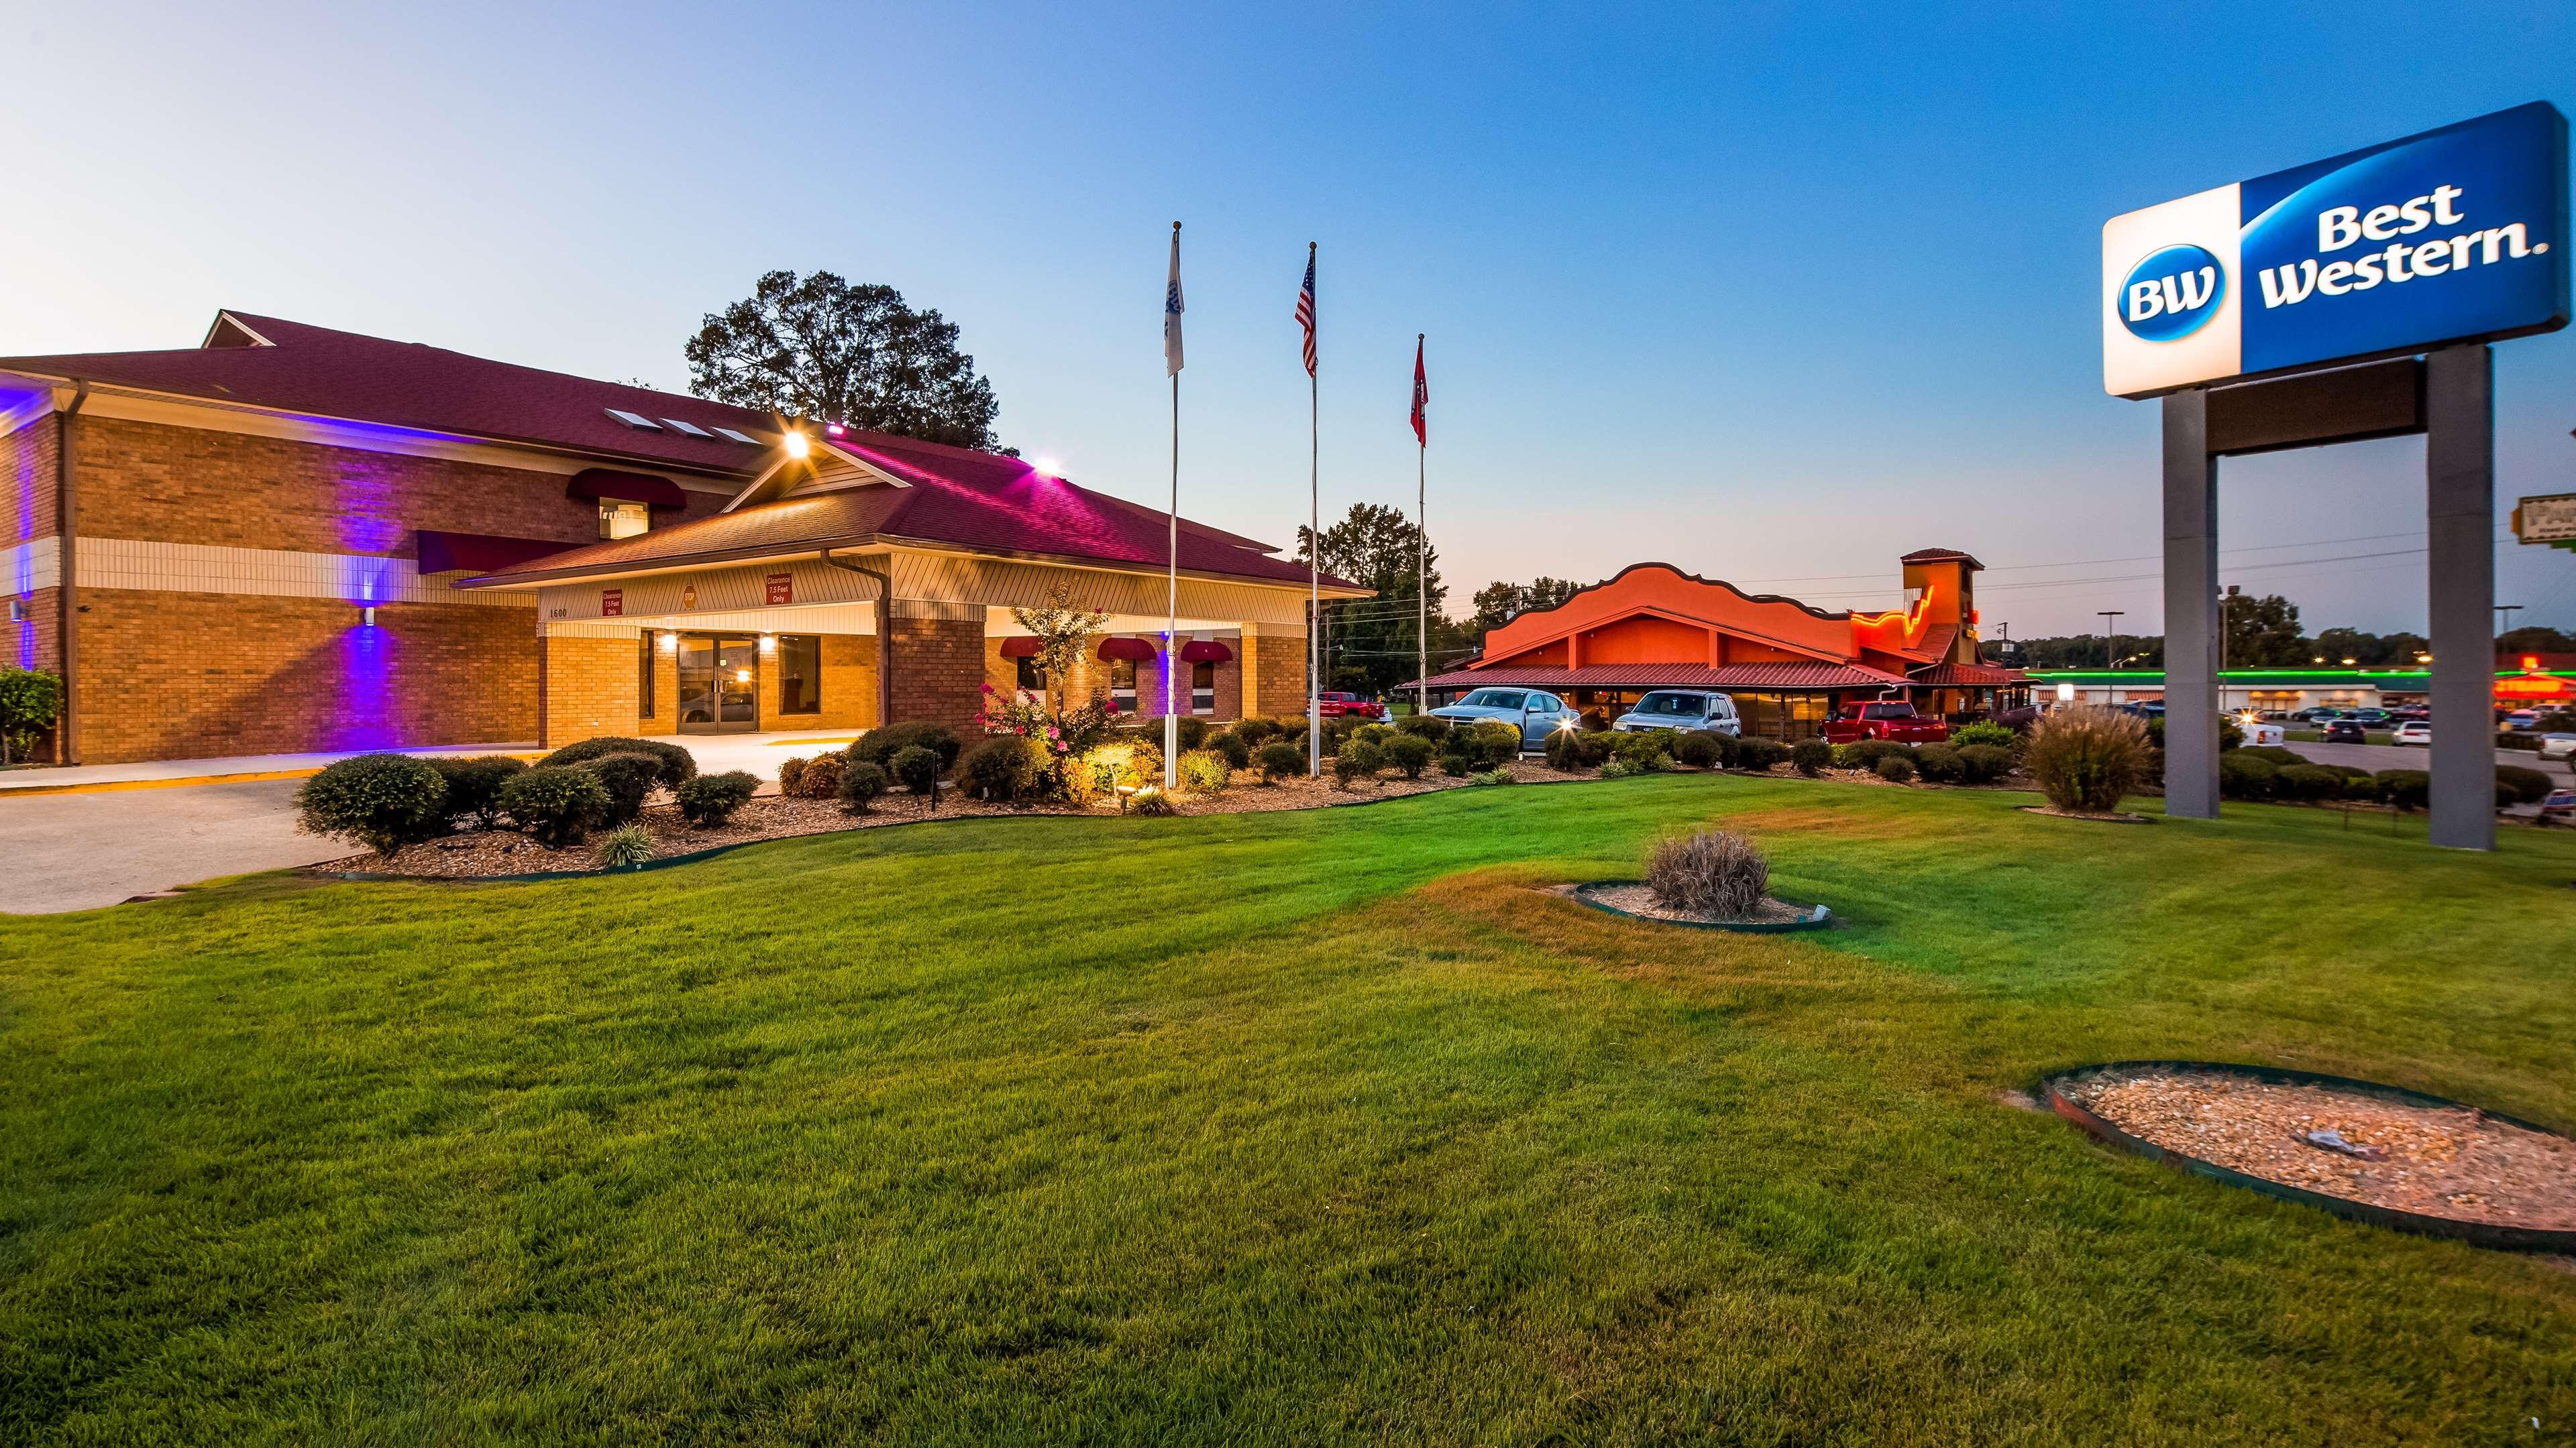
[[[2164,812],[2218,819],[2218,459],[2200,386],[2164,399]]]

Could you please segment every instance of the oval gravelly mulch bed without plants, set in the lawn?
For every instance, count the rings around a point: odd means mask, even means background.
[[[2391,1211],[2576,1232],[2576,1141],[2429,1108],[2221,1072],[2094,1077],[2066,1095],[2202,1162]],[[2354,1152],[2308,1139],[2334,1131]]]

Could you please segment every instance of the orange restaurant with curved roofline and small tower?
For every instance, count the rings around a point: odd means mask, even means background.
[[[1546,688],[1615,719],[1651,688],[1734,696],[1747,734],[1806,739],[1844,703],[1909,698],[1984,719],[2030,701],[2017,670],[1976,662],[1976,575],[1958,549],[1899,559],[1906,605],[1808,608],[1775,593],[1633,564],[1566,603],[1484,636],[1484,657],[1430,680],[1435,703],[1471,688]]]

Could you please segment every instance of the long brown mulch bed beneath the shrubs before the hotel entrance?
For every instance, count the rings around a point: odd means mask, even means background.
[[[1512,770],[1515,783],[1569,783],[1587,776],[1561,776],[1543,763],[1520,760],[1504,765]],[[1350,788],[1337,788],[1332,776],[1306,778],[1293,776],[1280,783],[1260,783],[1257,770],[1236,770],[1234,783],[1224,794],[1190,796],[1175,794],[1172,804],[1182,814],[1260,814],[1270,809],[1329,809],[1337,804],[1368,804],[1376,799],[1404,799],[1409,794],[1437,794],[1443,788],[1466,788],[1473,781],[1450,778],[1437,768],[1422,770],[1422,778],[1409,781],[1404,776],[1388,773],[1376,783],[1352,783]],[[850,814],[837,799],[786,799],[778,794],[775,783],[762,783],[760,794],[750,804],[734,812],[732,819],[711,830],[698,830],[680,817],[675,804],[647,804],[644,814],[636,819],[652,835],[654,858],[670,855],[696,855],[698,850],[716,850],[721,845],[750,845],[757,840],[793,840],[799,835],[835,835],[840,830],[876,830],[886,824],[920,824],[925,819],[992,819],[992,817],[1038,817],[1038,814],[1069,814],[1069,817],[1097,817],[1115,819],[1115,804],[1097,804],[1092,809],[1046,806],[1046,804],[979,804],[956,794],[953,788],[940,788],[940,809],[930,814],[925,801],[909,794],[889,794],[876,801],[866,814]],[[564,850],[549,850],[528,835],[515,830],[474,830],[464,835],[446,835],[440,840],[428,840],[420,845],[404,845],[392,855],[379,855],[374,850],[363,855],[348,855],[345,861],[332,861],[327,866],[314,866],[330,873],[386,873],[386,876],[425,876],[425,879],[489,879],[489,876],[533,876],[533,873],[564,873],[564,871],[598,871],[600,843],[592,835],[582,845]]]

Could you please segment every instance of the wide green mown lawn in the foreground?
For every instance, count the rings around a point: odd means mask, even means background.
[[[1999,1098],[2205,1056],[2576,1126],[2576,837],[2025,801],[1659,776],[8,920],[0,1443],[2566,1440],[2568,1262]],[[1530,889],[1703,819],[1852,925]]]

